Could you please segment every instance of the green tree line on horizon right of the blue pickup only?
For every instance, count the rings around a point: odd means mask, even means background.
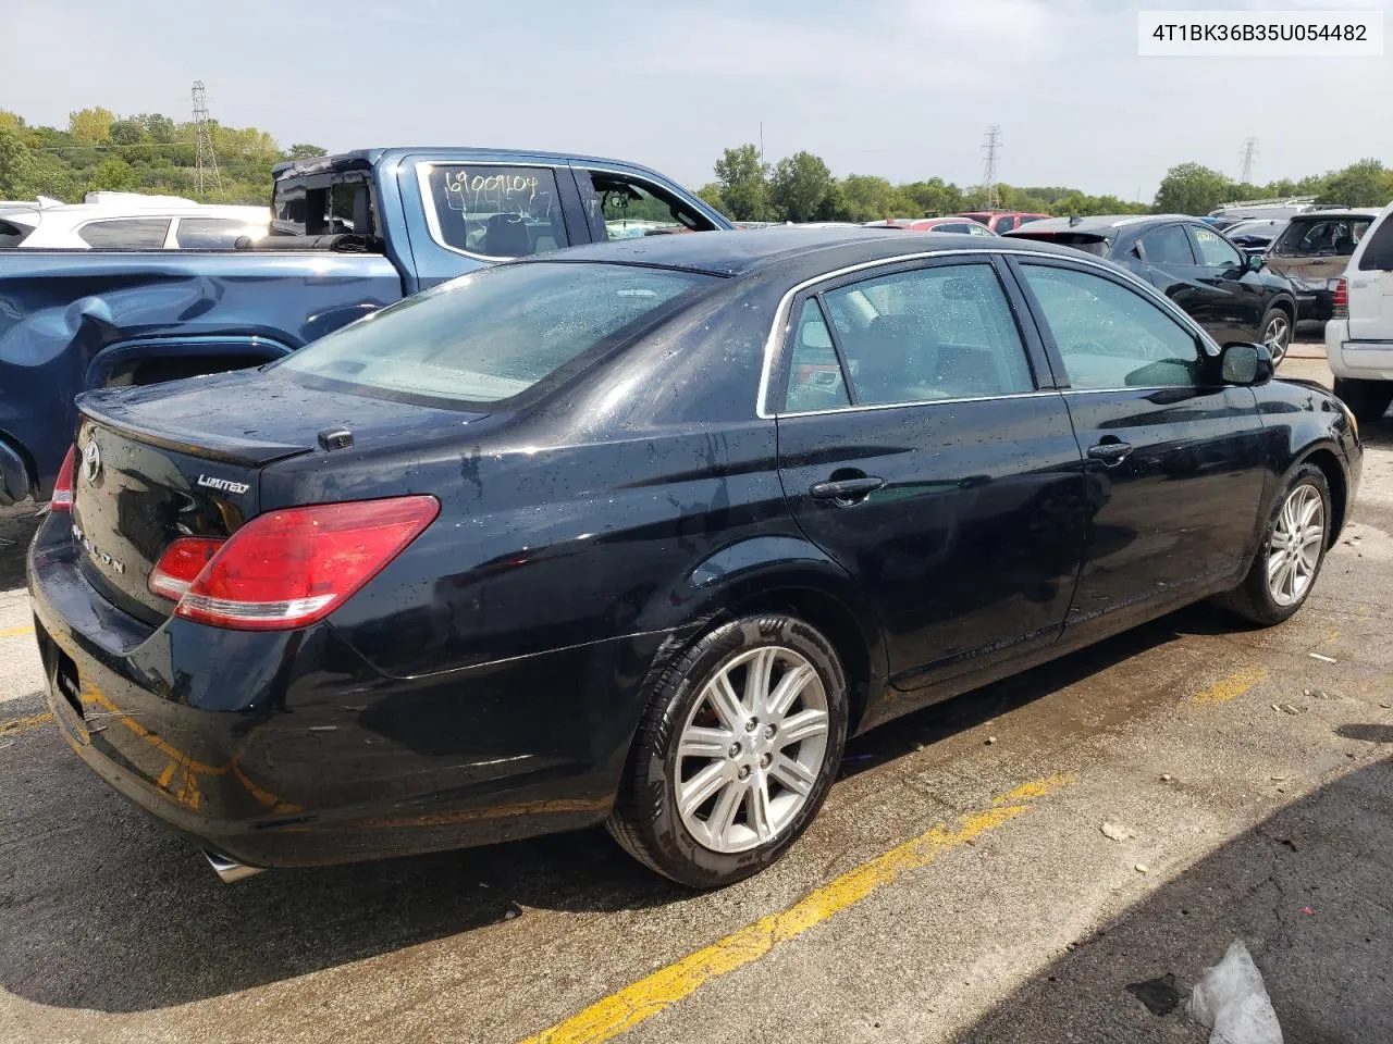
[[[942,178],[900,185],[868,174],[839,178],[822,157],[797,152],[765,163],[755,145],[726,149],[716,160],[716,180],[699,195],[737,221],[875,221],[885,217],[932,217],[986,209],[985,185],[958,187]],[[1393,170],[1379,160],[1360,160],[1343,170],[1300,181],[1266,185],[1237,182],[1198,163],[1172,167],[1151,203],[1077,188],[996,185],[997,206],[1042,214],[1208,214],[1240,199],[1316,196],[1341,206],[1383,206],[1393,199]]]

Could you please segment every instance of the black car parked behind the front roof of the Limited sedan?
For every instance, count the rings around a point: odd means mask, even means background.
[[[1273,366],[1291,345],[1291,284],[1198,217],[1050,217],[1009,232],[1107,258],[1151,283],[1220,344],[1261,341]]]

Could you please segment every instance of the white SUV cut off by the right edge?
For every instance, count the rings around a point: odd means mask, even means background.
[[[1369,226],[1336,283],[1325,354],[1334,394],[1354,416],[1383,416],[1393,402],[1393,203]]]

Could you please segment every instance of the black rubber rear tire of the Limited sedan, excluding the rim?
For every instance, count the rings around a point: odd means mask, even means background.
[[[816,672],[826,699],[826,748],[802,806],[772,839],[740,852],[720,852],[698,841],[677,807],[677,742],[688,718],[705,711],[699,704],[706,683],[731,660],[761,647],[791,650]],[[779,859],[818,814],[841,763],[847,720],[846,671],[832,643],[816,628],[781,614],[722,624],[692,644],[653,685],[609,831],[641,863],[691,888],[719,888],[749,877]],[[737,816],[745,809],[741,803]]]

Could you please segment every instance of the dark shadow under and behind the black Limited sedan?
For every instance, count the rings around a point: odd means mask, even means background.
[[[1185,633],[1234,631],[1192,607],[855,739],[844,774],[1042,699]],[[1167,690],[1166,699],[1174,693]],[[223,885],[184,841],[109,791],[59,739],[6,750],[0,793],[0,988],[29,1001],[137,1012],[219,997],[486,928],[521,908],[642,909],[691,892],[603,832],[357,866],[276,870]],[[833,792],[833,800],[836,792]]]

